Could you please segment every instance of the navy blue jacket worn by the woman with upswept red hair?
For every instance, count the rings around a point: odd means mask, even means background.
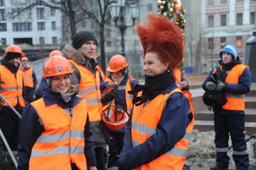
[[[177,86],[174,82],[160,94],[171,93],[175,88]],[[157,123],[156,133],[136,147],[133,147],[132,143],[133,115],[131,114],[125,127],[124,147],[119,160],[121,168],[132,169],[147,164],[174,148],[174,145],[186,134],[187,125],[190,123],[188,111],[189,103],[182,93],[174,93],[169,96]],[[148,117],[150,117],[150,112],[148,112]]]

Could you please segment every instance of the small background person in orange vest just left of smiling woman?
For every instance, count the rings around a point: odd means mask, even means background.
[[[25,87],[25,101],[29,104],[34,101],[35,88],[37,88],[37,77],[32,67],[29,67],[29,59],[26,56],[23,56],[20,59],[23,75],[23,82]],[[24,94],[23,94],[24,96]]]

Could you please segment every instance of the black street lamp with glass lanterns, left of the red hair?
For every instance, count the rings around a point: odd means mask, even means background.
[[[125,50],[124,50],[124,31],[129,28],[129,27],[133,27],[135,26],[135,20],[136,17],[139,14],[139,7],[132,3],[128,8],[129,8],[129,13],[130,13],[130,17],[133,20],[133,25],[127,26],[125,25],[124,22],[124,4],[125,4],[125,0],[118,0],[116,1],[114,4],[111,5],[111,17],[112,19],[114,19],[115,22],[115,27],[120,29],[121,32],[121,46],[122,46],[122,52],[121,55],[125,56]],[[118,20],[120,20],[120,22],[118,22]]]

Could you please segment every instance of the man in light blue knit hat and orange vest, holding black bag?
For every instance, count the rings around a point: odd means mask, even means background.
[[[218,90],[225,93],[227,103],[213,108],[215,123],[216,166],[211,170],[228,169],[230,157],[227,155],[228,138],[233,144],[233,159],[236,169],[249,168],[249,156],[246,148],[245,134],[245,94],[251,87],[251,71],[239,62],[237,48],[227,45],[219,53],[220,70],[225,73],[224,82],[215,82],[213,76],[217,68],[210,71],[203,82],[204,90]]]

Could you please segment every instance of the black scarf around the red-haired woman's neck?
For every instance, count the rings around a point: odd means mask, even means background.
[[[172,83],[175,82],[174,76],[169,71],[158,74],[156,76],[145,76],[144,85],[135,85],[133,90],[129,91],[129,94],[136,94],[139,91],[142,91],[142,96],[136,97],[132,100],[132,103],[136,106],[142,105],[148,100],[153,100],[154,97],[158,96],[161,91],[169,87]]]

